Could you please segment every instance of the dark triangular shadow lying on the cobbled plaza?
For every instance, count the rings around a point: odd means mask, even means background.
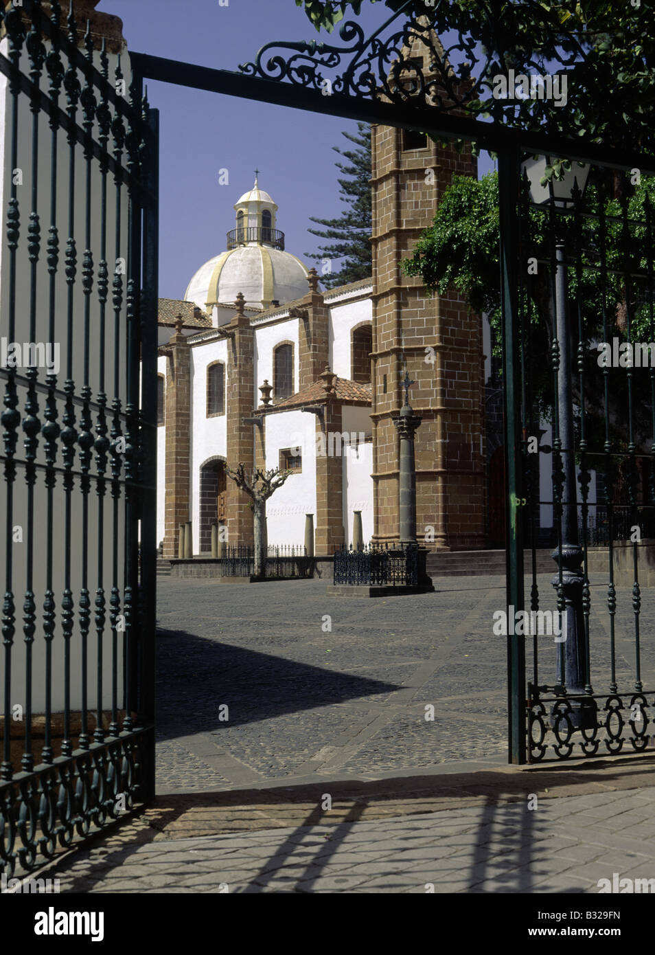
[[[216,692],[207,692],[214,687]],[[386,696],[398,684],[298,663],[285,657],[158,628],[158,735],[243,726],[285,713],[310,710],[363,696]]]

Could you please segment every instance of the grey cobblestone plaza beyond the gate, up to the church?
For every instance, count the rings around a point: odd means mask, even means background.
[[[550,580],[539,576],[541,606],[550,601],[554,609]],[[506,642],[492,626],[503,607],[504,577],[434,583],[433,594],[349,600],[318,581],[161,578],[158,793],[326,775],[372,779],[463,760],[502,765]],[[644,635],[655,593],[644,591],[643,601]],[[618,605],[623,681],[633,666],[627,589],[619,589]],[[603,587],[592,587],[592,623],[592,678],[603,691]],[[544,639],[540,679],[553,681],[555,647]],[[653,644],[643,639],[646,686],[655,685]],[[433,721],[426,720],[428,705]]]

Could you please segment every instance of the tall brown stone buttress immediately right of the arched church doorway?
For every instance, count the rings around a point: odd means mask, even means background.
[[[243,294],[237,296],[237,313],[232,321],[223,326],[229,335],[227,346],[227,465],[236,471],[239,464],[246,472],[255,466],[255,438],[253,425],[243,424],[242,418],[252,417],[255,403],[253,330],[244,311]],[[240,491],[234,481],[227,478],[226,513],[227,536],[231,546],[242,544],[252,547],[253,515],[250,499]]]

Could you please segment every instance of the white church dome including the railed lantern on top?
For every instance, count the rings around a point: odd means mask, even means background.
[[[285,235],[275,227],[278,207],[257,179],[234,208],[237,227],[227,233],[227,251],[201,265],[184,300],[211,312],[215,305],[231,305],[239,292],[250,308],[306,295],[307,269],[285,252]]]

